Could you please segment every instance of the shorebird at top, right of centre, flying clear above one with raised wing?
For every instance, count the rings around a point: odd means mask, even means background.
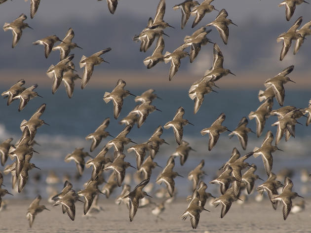
[[[206,26],[214,26],[217,29],[219,36],[225,44],[228,43],[229,39],[228,25],[233,24],[237,27],[237,25],[233,23],[231,19],[227,19],[227,16],[228,12],[225,9],[222,9],[221,11],[219,11],[216,19],[213,22],[206,24]]]

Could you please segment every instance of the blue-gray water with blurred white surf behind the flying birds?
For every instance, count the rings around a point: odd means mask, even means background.
[[[1,88],[1,92],[5,90],[5,87]],[[6,99],[2,99],[0,102],[0,140],[4,140],[8,137],[13,137],[15,142],[21,135],[19,124],[23,119],[29,119],[33,112],[42,103],[46,103],[47,107],[44,114],[41,116],[45,122],[49,123],[50,126],[41,126],[36,134],[36,141],[40,146],[36,146],[35,150],[40,154],[34,154],[32,162],[35,163],[42,170],[37,169],[29,172],[29,183],[26,185],[24,194],[33,197],[34,187],[40,190],[41,194],[45,194],[45,178],[48,171],[54,169],[58,172],[60,178],[64,173],[69,173],[74,176],[76,172],[76,165],[72,161],[70,163],[64,162],[64,157],[74,151],[76,147],[84,147],[85,150],[89,150],[91,141],[85,141],[85,136],[93,132],[98,125],[106,118],[110,117],[110,125],[107,128],[112,135],[116,136],[119,131],[123,129],[123,125],[119,125],[118,120],[126,116],[127,113],[135,106],[134,97],[129,96],[124,100],[123,108],[120,116],[117,120],[113,117],[113,105],[112,103],[105,104],[103,101],[103,94],[105,91],[111,91],[111,87],[102,87],[101,89],[88,89],[80,90],[76,88],[74,96],[69,99],[63,87],[61,87],[55,95],[51,94],[50,89],[38,88],[38,93],[44,98],[35,98],[31,100],[26,108],[18,112],[18,101],[14,101],[10,106],[6,106]],[[129,89],[129,88],[126,88]],[[129,89],[133,94],[139,95],[143,89]],[[209,127],[210,124],[224,112],[226,114],[226,120],[224,125],[229,129],[233,130],[242,116],[247,116],[250,111],[255,111],[260,102],[257,99],[258,90],[255,89],[240,89],[240,90],[229,90],[229,89],[217,89],[219,92],[210,93],[205,95],[205,100],[196,115],[193,114],[194,103],[188,97],[188,89],[165,89],[156,88],[156,94],[162,98],[162,100],[156,99],[153,104],[160,109],[162,112],[154,112],[150,114],[146,122],[140,129],[135,127],[128,134],[134,142],[142,143],[149,139],[154,130],[158,125],[163,125],[167,121],[171,120],[178,107],[183,106],[186,110],[184,118],[187,118],[194,124],[187,125],[184,127],[184,139],[191,143],[191,146],[197,152],[191,152],[187,162],[182,167],[179,160],[176,159],[175,170],[183,175],[185,178],[177,177],[176,187],[179,194],[189,194],[189,188],[191,186],[190,181],[186,179],[188,173],[196,166],[201,159],[205,159],[204,170],[208,174],[204,178],[205,182],[209,182],[218,168],[225,162],[231,155],[233,147],[236,147],[243,155],[253,150],[255,146],[259,147],[265,136],[267,130],[272,130],[273,134],[276,132],[276,127],[272,127],[271,124],[276,121],[276,116],[271,116],[267,119],[266,127],[263,135],[257,138],[255,134],[249,134],[249,141],[246,151],[243,151],[238,139],[233,137],[229,139],[228,133],[221,134],[218,143],[215,148],[208,152],[207,150],[207,136],[201,136],[200,130]],[[286,90],[285,103],[286,105],[293,105],[299,108],[305,108],[308,106],[309,99],[311,98],[311,92],[308,90]],[[274,101],[273,109],[279,108],[276,101]],[[296,138],[290,138],[285,143],[284,139],[280,142],[278,147],[284,152],[275,152],[273,154],[273,169],[274,173],[277,173],[280,169],[288,167],[294,170],[294,188],[299,190],[301,182],[299,180],[300,169],[307,168],[310,171],[310,149],[309,143],[311,141],[310,127],[305,126],[306,118],[302,117],[298,120],[303,125],[296,126]],[[254,120],[249,121],[249,127],[256,131],[256,122]],[[177,146],[172,129],[165,130],[162,134],[169,144],[162,145],[159,153],[156,155],[155,161],[164,166],[167,158],[174,153]],[[105,146],[110,138],[104,139],[96,150],[90,153],[96,156],[97,153]],[[135,155],[128,154],[126,149],[131,145],[125,146],[124,153],[126,156],[125,160],[135,163]],[[112,154],[112,152],[111,152]],[[249,163],[255,163],[258,167],[257,173],[261,178],[266,179],[263,161],[260,157],[249,158]],[[8,159],[7,164],[11,161]],[[40,172],[41,180],[39,184],[35,184],[32,177],[35,173]],[[160,168],[156,168],[153,171],[152,181],[155,181],[156,176],[161,171]],[[128,168],[127,172],[134,172],[133,168]],[[80,181],[74,181],[74,188],[80,189],[81,184],[86,181],[91,174],[91,169],[85,169],[84,174]],[[108,176],[108,175],[107,175]],[[10,187],[10,176],[5,176],[4,184]],[[256,183],[260,184],[259,181]],[[134,184],[133,184],[134,185]],[[57,186],[61,189],[62,184]],[[156,185],[156,189],[159,188]],[[209,189],[214,192],[214,185],[210,185]],[[115,194],[119,193],[119,190],[115,191]],[[215,193],[216,194],[216,193]],[[18,194],[23,195],[23,194]],[[17,196],[18,196],[17,195]],[[15,197],[16,198],[16,197]]]

